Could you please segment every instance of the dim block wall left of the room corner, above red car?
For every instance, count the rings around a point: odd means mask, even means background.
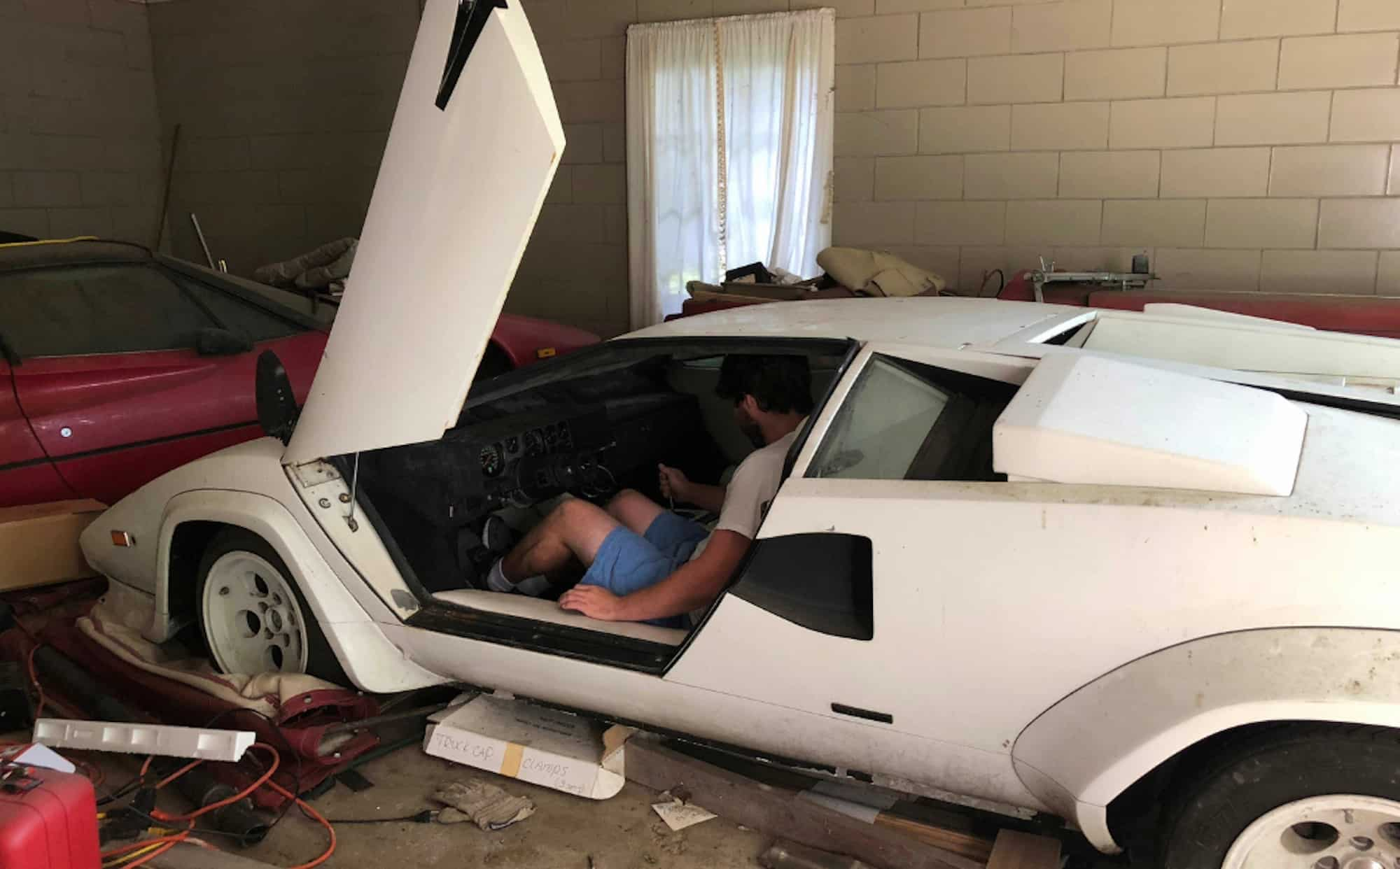
[[[146,7],[0,0],[0,229],[150,243],[160,167]]]

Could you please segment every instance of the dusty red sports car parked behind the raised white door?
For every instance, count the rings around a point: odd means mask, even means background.
[[[0,507],[112,504],[259,437],[258,354],[276,350],[302,402],[333,318],[335,305],[139,245],[0,243]],[[504,313],[477,376],[595,341]]]

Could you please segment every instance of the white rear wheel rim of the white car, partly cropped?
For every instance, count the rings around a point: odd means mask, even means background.
[[[1280,806],[1239,834],[1221,869],[1294,868],[1400,868],[1400,802],[1337,793]]]

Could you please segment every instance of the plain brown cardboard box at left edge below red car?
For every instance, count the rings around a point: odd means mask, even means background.
[[[95,575],[78,535],[104,509],[97,501],[0,507],[0,591]]]

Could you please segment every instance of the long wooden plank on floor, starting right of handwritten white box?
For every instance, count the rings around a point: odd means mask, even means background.
[[[634,736],[627,743],[626,775],[652,791],[685,791],[697,806],[738,824],[879,869],[983,869],[981,862],[797,799],[792,791],[755,782],[651,739]]]

